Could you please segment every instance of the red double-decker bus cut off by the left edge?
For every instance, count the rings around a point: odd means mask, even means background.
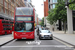
[[[0,19],[0,35],[12,33],[13,21]]]

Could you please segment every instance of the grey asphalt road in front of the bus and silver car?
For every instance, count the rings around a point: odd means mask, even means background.
[[[70,45],[65,44],[58,39],[39,40],[35,35],[35,40],[14,40],[2,47],[0,50],[73,50]]]

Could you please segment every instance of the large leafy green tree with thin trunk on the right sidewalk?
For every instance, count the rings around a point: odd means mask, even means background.
[[[54,22],[56,22],[57,20],[61,20],[64,23],[64,30],[66,33],[67,11],[64,1],[58,0],[55,8],[49,11],[47,20],[50,24],[54,24]]]

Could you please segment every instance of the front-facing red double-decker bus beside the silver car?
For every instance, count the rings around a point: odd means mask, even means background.
[[[18,7],[14,13],[14,39],[34,39],[35,32],[34,8]]]

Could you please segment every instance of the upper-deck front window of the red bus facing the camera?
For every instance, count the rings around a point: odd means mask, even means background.
[[[33,15],[33,8],[16,8],[16,15]]]

